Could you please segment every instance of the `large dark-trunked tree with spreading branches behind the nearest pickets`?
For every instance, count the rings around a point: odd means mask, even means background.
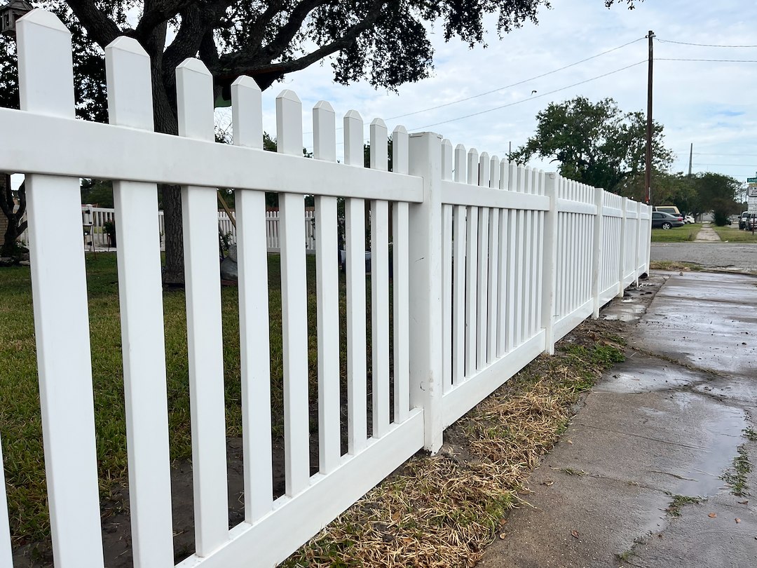
[[[634,8],[643,0],[603,0]],[[176,134],[175,69],[197,57],[213,74],[215,95],[228,97],[240,75],[266,89],[288,73],[330,58],[337,83],[365,79],[395,90],[429,76],[431,24],[445,40],[483,44],[484,17],[500,35],[537,22],[549,0],[42,0],[73,33],[77,111],[106,115],[102,49],[131,36],[151,58],[154,126]],[[14,46],[0,39],[0,105],[17,106]],[[14,70],[14,69],[13,69]],[[10,104],[9,104],[10,103]],[[181,197],[163,188],[167,283],[183,282]]]

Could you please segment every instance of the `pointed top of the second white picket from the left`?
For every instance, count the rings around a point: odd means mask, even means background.
[[[136,39],[121,36],[106,46],[105,77],[108,122],[153,130],[150,56]]]

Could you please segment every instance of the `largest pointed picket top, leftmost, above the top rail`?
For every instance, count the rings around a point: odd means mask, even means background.
[[[75,117],[71,34],[58,16],[36,8],[20,17],[17,52],[21,110]]]

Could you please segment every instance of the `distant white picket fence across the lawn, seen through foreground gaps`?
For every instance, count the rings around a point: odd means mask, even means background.
[[[86,232],[84,239],[86,250],[92,250],[92,248],[95,248],[95,250],[110,248],[108,246],[109,243],[107,232],[105,231],[105,223],[113,221],[115,218],[115,209],[82,205],[82,225],[83,230]],[[305,211],[305,250],[309,254],[316,251],[315,218],[315,211]],[[23,219],[26,220],[26,214],[24,214]],[[266,242],[268,243],[269,252],[281,251],[279,240],[279,219],[279,211],[266,211]],[[160,235],[160,248],[163,249],[165,245],[163,211],[157,212],[157,223],[158,233]],[[236,244],[236,227],[225,211],[218,212],[218,229],[221,234],[229,236],[229,244]],[[26,229],[21,233],[19,241],[24,246],[29,246],[29,229]]]

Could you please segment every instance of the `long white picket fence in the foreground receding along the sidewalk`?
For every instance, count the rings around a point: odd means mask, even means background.
[[[174,563],[157,183],[182,186],[184,212],[195,553],[179,563],[183,568],[279,563],[416,451],[438,451],[445,426],[538,354],[552,352],[559,337],[647,270],[648,207],[453,148],[434,133],[409,136],[398,126],[390,173],[387,129],[373,120],[371,167],[365,168],[363,120],[350,111],[343,123],[344,163],[338,164],[335,113],[321,101],[313,109],[314,159],[303,158],[301,103],[284,91],[276,98],[279,153],[263,151],[261,93],[248,77],[232,86],[234,145],[217,144],[213,80],[198,60],[176,70],[179,136],[153,133],[150,64],[134,39],[117,39],[106,49],[111,124],[75,120],[70,53],[70,34],[55,16],[38,9],[21,18],[23,110],[0,108],[0,170],[26,173],[45,468],[59,568],[104,566],[79,177],[117,180],[137,568]],[[236,189],[239,264],[245,520],[230,530],[217,187]],[[276,499],[264,192],[279,193],[280,205],[286,488]],[[317,220],[319,471],[313,476],[303,195],[315,196]],[[346,454],[340,445],[338,197],[345,198],[347,254]],[[366,200],[372,385],[366,385]],[[0,565],[12,565],[3,491]]]

